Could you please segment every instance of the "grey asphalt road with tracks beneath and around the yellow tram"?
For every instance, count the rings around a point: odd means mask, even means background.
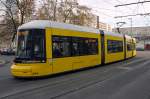
[[[150,99],[150,52],[115,64],[44,79],[14,79],[0,66],[1,99]]]

